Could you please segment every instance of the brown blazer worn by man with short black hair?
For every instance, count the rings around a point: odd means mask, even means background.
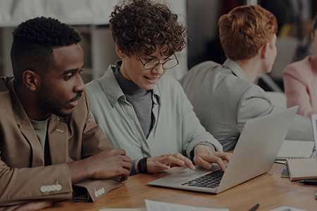
[[[44,166],[41,145],[15,93],[13,77],[0,77],[0,206],[47,198],[68,200],[76,191],[86,191],[94,201],[123,185],[113,178],[72,186],[67,162],[113,148],[89,111],[85,92],[70,116],[51,115],[47,134],[52,165]]]

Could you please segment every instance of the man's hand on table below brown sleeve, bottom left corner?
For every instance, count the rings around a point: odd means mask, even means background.
[[[8,207],[0,207],[0,211],[34,211],[34,210],[42,210],[45,207],[51,206],[55,200],[35,200],[30,203],[24,203],[20,205],[12,205]]]

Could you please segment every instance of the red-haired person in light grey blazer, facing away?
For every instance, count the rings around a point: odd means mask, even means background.
[[[271,72],[277,49],[275,16],[261,6],[239,6],[218,21],[227,56],[223,65],[206,61],[181,80],[201,124],[223,145],[235,148],[244,124],[276,113],[266,92],[254,84],[256,76]],[[309,118],[296,115],[286,139],[313,140]]]

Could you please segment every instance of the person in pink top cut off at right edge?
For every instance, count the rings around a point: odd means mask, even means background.
[[[311,41],[317,52],[317,15],[313,18]],[[317,53],[287,65],[282,72],[287,108],[299,106],[297,114],[317,113]]]

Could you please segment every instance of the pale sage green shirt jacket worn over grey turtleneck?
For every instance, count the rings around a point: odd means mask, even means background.
[[[125,149],[132,160],[164,153],[182,153],[192,159],[194,147],[206,141],[216,151],[223,151],[199,123],[180,83],[168,73],[153,89],[154,125],[146,139],[133,106],[120,89],[115,70],[116,66],[110,65],[103,77],[86,84],[91,115],[115,148]]]

